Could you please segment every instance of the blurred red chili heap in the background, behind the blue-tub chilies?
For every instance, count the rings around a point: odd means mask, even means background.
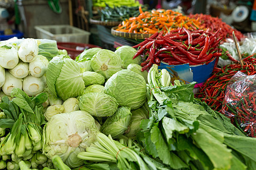
[[[196,19],[198,22],[201,23],[201,27],[209,28],[210,31],[216,32],[219,28],[221,28],[220,32],[218,33],[218,37],[224,37],[225,39],[232,39],[232,33],[235,32],[237,39],[240,41],[245,36],[238,31],[230,27],[230,25],[222,22],[221,18],[216,18],[210,15],[205,14],[190,14],[188,15],[189,18]]]

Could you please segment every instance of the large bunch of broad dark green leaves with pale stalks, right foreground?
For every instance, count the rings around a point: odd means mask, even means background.
[[[148,72],[148,85],[154,89],[148,101],[152,116],[142,121],[137,134],[146,152],[174,169],[253,167],[255,139],[245,137],[221,113],[193,99],[194,83],[163,87],[157,68],[153,65]]]

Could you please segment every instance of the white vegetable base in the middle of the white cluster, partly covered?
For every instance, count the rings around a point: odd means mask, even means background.
[[[13,69],[9,69],[9,72],[16,78],[24,78],[28,75],[28,63],[20,61]]]

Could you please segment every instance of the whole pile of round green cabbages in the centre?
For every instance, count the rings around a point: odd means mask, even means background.
[[[147,71],[141,71],[139,59],[132,59],[136,52],[130,46],[115,52],[92,48],[75,60],[61,54],[49,61],[44,155],[58,155],[75,168],[84,163],[77,155],[96,142],[98,133],[135,138],[149,112]]]

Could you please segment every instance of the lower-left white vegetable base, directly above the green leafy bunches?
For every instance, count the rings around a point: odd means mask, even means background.
[[[22,79],[16,78],[8,71],[5,73],[5,84],[2,86],[2,91],[7,95],[11,95],[11,91],[14,87],[22,89]]]

